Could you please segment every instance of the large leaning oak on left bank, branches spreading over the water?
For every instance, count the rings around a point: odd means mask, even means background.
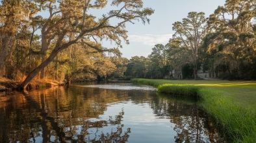
[[[41,78],[44,78],[44,68],[55,59],[58,52],[78,42],[99,52],[107,50],[99,44],[103,39],[121,45],[122,38],[129,43],[125,24],[134,23],[134,20],[149,23],[147,16],[153,14],[151,8],[143,8],[142,0],[113,0],[111,3],[107,0],[48,0],[34,1],[34,4],[49,12],[49,17],[44,19],[41,28],[42,63],[21,83],[22,88],[40,71]],[[113,10],[100,18],[96,19],[90,14],[90,10],[102,9],[107,5],[111,5]],[[50,45],[53,47],[51,50]]]

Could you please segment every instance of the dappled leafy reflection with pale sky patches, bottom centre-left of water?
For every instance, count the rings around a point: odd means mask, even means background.
[[[71,142],[127,142],[130,129],[123,131],[123,124],[121,124],[124,112],[120,112],[113,119],[109,116],[109,120],[100,120],[92,122],[85,120],[81,126],[64,127],[65,133],[64,141]],[[110,133],[104,133],[104,127],[110,126]],[[109,130],[109,129],[108,129]],[[80,133],[79,133],[80,131]]]

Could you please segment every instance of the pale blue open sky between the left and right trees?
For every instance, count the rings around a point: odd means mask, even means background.
[[[172,24],[182,21],[188,12],[205,12],[205,17],[213,14],[218,6],[224,6],[225,0],[142,0],[144,7],[152,8],[155,13],[149,16],[150,23],[143,25],[135,21],[128,23],[129,45],[122,43],[122,57],[131,59],[133,56],[147,57],[156,44],[166,45],[172,38]],[[116,47],[103,41],[103,47]]]

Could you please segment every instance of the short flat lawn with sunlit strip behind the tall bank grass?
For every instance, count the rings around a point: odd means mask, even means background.
[[[180,85],[196,85],[216,90],[227,98],[230,98],[235,104],[243,107],[256,109],[256,82],[237,82],[237,81],[210,81],[210,80],[145,80],[134,79],[134,82],[144,83],[158,87],[164,83]]]

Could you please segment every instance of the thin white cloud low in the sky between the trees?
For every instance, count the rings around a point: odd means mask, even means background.
[[[142,45],[154,46],[156,44],[165,45],[168,43],[169,39],[172,38],[172,34],[164,34],[164,35],[129,35],[130,43],[136,42],[141,43]]]

